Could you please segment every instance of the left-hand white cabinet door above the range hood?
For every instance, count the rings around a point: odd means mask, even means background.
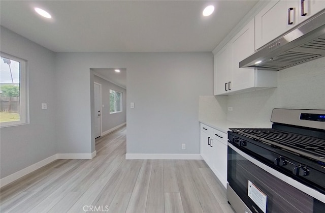
[[[271,1],[255,16],[255,49],[262,47],[298,24],[296,1]],[[289,10],[292,8],[292,10]]]

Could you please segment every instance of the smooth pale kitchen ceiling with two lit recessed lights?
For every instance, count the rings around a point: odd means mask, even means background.
[[[0,23],[54,52],[210,52],[257,2],[1,0]]]

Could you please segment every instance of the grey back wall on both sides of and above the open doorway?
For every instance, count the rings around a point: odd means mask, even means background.
[[[56,62],[59,153],[94,151],[89,69],[107,67],[127,69],[127,106],[135,103],[127,153],[200,153],[199,96],[213,94],[212,53],[57,53]]]

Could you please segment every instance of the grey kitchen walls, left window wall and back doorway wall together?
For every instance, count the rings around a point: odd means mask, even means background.
[[[30,124],[1,128],[1,177],[56,153],[94,151],[90,68],[127,69],[126,106],[135,102],[127,110],[127,153],[200,153],[199,96],[213,94],[211,52],[54,53],[3,27],[1,44],[28,60],[30,101]]]

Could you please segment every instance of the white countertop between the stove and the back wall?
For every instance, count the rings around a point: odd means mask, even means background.
[[[200,123],[208,125],[216,130],[224,133],[228,133],[229,128],[259,128],[256,126],[241,124],[230,120],[204,120],[200,119]]]

